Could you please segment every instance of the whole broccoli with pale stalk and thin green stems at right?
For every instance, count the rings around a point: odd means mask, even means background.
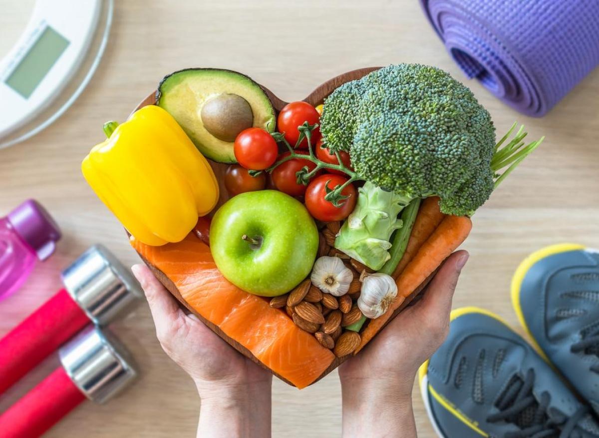
[[[521,128],[500,148],[514,127],[495,144],[488,111],[435,67],[390,65],[338,87],[325,99],[320,132],[331,152],[349,152],[367,183],[335,247],[377,270],[410,201],[437,195],[443,213],[472,215],[543,140],[523,147]]]

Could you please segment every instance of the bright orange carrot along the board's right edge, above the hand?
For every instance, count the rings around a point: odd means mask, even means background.
[[[467,216],[446,216],[443,219],[396,280],[397,297],[395,297],[385,315],[370,321],[362,331],[362,343],[354,354],[364,348],[379,333],[406,297],[412,294],[420,283],[462,244],[470,234],[471,229],[472,221]]]

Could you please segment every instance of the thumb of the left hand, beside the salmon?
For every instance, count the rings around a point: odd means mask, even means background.
[[[144,289],[156,325],[156,334],[158,339],[161,339],[162,335],[176,325],[177,319],[181,316],[181,309],[173,295],[162,286],[146,265],[133,265],[131,271]]]

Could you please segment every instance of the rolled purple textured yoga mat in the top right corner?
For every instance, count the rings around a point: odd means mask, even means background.
[[[599,64],[599,0],[420,0],[447,51],[518,111],[540,117]]]

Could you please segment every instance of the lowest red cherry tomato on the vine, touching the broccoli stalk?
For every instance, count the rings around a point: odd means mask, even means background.
[[[308,184],[308,189],[305,192],[305,206],[310,215],[323,222],[332,222],[333,220],[347,218],[356,206],[356,199],[358,198],[356,196],[356,188],[353,184],[346,186],[341,191],[341,194],[348,198],[339,201],[339,207],[335,207],[331,202],[325,200],[325,185],[332,190],[346,181],[347,178],[331,173],[314,178]]]

